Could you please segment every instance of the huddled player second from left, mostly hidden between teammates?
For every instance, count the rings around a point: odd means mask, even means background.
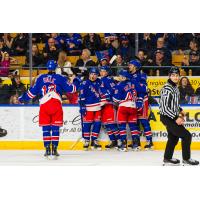
[[[110,68],[108,66],[100,67],[101,86],[104,87],[110,94],[110,98],[103,102],[101,110],[102,124],[105,126],[107,134],[110,139],[110,144],[106,145],[106,149],[117,147],[117,140],[119,137],[119,130],[116,124],[116,111],[114,109],[112,96],[114,94],[115,81],[109,76]],[[118,141],[119,142],[119,141]]]

